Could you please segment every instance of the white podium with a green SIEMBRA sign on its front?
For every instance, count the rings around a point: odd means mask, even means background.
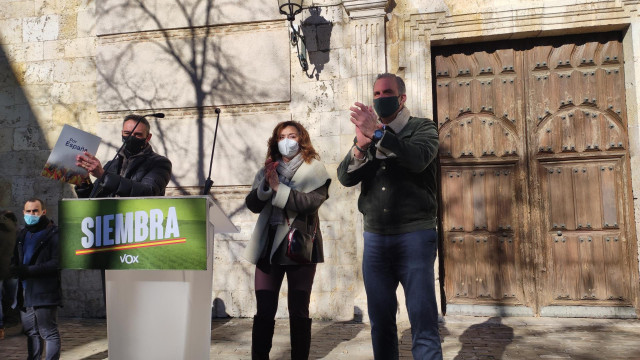
[[[184,196],[62,200],[60,209],[63,267],[105,269],[109,359],[209,359],[214,234],[238,232],[220,207]]]

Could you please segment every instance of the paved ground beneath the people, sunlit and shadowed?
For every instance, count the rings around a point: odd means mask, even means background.
[[[289,359],[287,320],[276,322],[272,359]],[[61,319],[62,359],[106,359],[105,320]],[[0,359],[26,359],[19,327],[0,340]],[[440,324],[445,359],[640,359],[640,321],[447,316]],[[369,326],[313,323],[311,359],[372,359]],[[401,358],[411,359],[408,324],[400,324]],[[212,323],[212,359],[250,359],[251,320]]]

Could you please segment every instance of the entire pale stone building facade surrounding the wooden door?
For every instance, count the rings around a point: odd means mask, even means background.
[[[333,177],[320,212],[326,263],[318,266],[312,316],[366,319],[359,189],[335,179],[353,139],[348,108],[356,100],[370,103],[373,78],[390,71],[404,76],[413,115],[430,117],[433,45],[625,31],[632,185],[640,191],[637,0],[317,0],[296,20],[307,39],[307,73],[272,0],[214,1],[211,9],[195,0],[143,3],[0,0],[0,208],[21,211],[37,195],[56,219],[57,201],[74,193],[39,173],[62,125],[101,136],[98,157],[107,160],[130,111],[166,114],[152,121],[151,143],[173,160],[169,194],[198,193],[214,109],[221,108],[213,193],[241,231],[216,239],[216,316],[254,314],[253,266],[240,254],[257,216],[244,207],[244,196],[271,129],[295,119],[308,128]],[[634,205],[640,224],[640,202]],[[65,270],[63,284],[62,315],[104,316],[99,272]],[[286,316],[285,295],[286,285],[278,316]]]

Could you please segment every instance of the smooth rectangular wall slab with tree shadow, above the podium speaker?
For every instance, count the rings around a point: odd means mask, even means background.
[[[289,62],[286,28],[199,36],[195,48],[191,48],[186,35],[100,45],[98,109],[190,108],[289,100],[289,67],[282,66]],[[207,52],[203,54],[204,41]],[[148,66],[150,59],[152,67]],[[191,67],[192,61],[207,64],[204,78],[202,72]],[[197,94],[203,95],[202,102]]]

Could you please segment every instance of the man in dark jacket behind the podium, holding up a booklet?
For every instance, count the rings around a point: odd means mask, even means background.
[[[140,123],[136,127],[136,123]],[[135,127],[135,129],[134,129]],[[156,154],[149,140],[149,121],[143,116],[127,115],[122,123],[122,141],[126,145],[115,161],[109,161],[104,168],[93,154],[85,152],[76,157],[76,165],[85,168],[100,179],[100,184],[87,182],[76,186],[76,194],[80,198],[90,197],[94,186],[99,186],[93,197],[134,197],[162,196],[171,179],[171,161]],[[131,137],[127,140],[127,138]]]

